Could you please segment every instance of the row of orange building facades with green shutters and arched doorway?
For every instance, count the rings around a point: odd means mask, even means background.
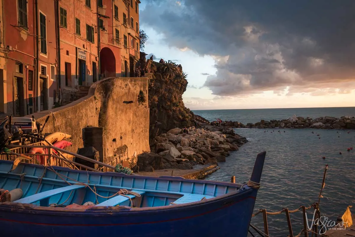
[[[0,0],[0,117],[51,109],[102,78],[133,77],[139,4]]]

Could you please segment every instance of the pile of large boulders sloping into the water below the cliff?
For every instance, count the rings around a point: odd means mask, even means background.
[[[212,127],[212,126],[210,126]],[[246,143],[245,137],[233,129],[190,127],[184,131],[173,128],[154,137],[151,153],[138,155],[133,171],[154,171],[160,169],[192,169],[193,165],[218,164],[225,162],[230,151],[238,150]]]

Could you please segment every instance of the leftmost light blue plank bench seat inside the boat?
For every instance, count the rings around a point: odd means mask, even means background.
[[[73,185],[69,185],[69,186],[65,186],[65,187],[61,187],[61,188],[55,188],[52,190],[48,190],[42,193],[37,193],[37,194],[33,194],[31,196],[25,197],[25,198],[21,198],[18,199],[16,201],[14,201],[14,203],[35,203],[39,201],[39,205],[40,206],[48,206],[49,205],[49,198],[56,195],[56,194],[60,194],[60,193],[64,193],[66,191],[72,191],[75,189],[79,189],[79,188],[84,188],[84,185],[78,185],[78,184],[73,184]]]

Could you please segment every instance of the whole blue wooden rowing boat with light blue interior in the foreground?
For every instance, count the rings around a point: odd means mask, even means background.
[[[1,160],[1,236],[246,237],[265,155],[245,184]]]

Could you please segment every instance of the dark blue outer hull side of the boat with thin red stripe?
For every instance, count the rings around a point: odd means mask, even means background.
[[[122,206],[123,210],[48,211],[4,203],[0,205],[0,227],[6,227],[1,231],[4,236],[20,236],[25,231],[26,237],[111,237],[114,233],[130,237],[246,237],[256,192],[247,189],[218,200],[140,210]]]

